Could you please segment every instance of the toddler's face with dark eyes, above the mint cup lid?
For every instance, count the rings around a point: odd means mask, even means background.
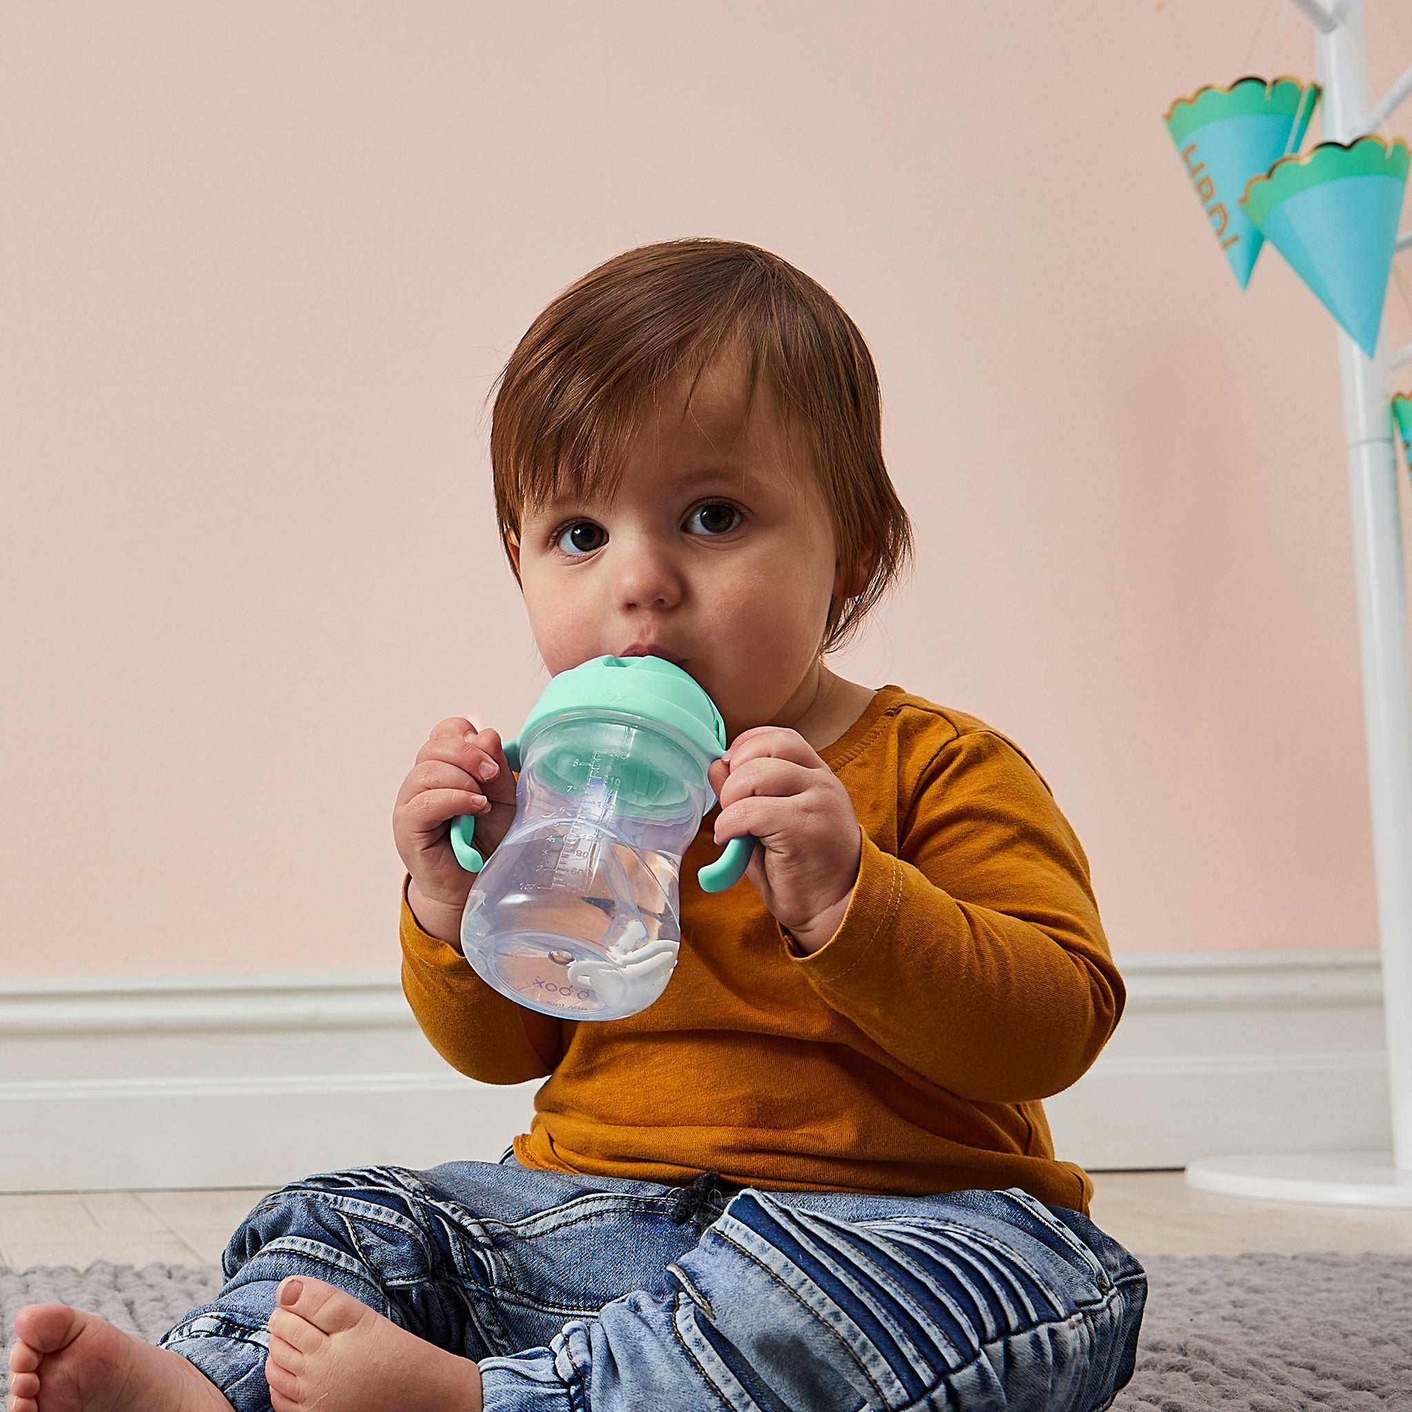
[[[511,545],[551,672],[665,657],[710,693],[730,740],[809,705],[829,599],[844,592],[808,453],[770,388],[748,417],[747,391],[723,363],[685,417],[685,385],[645,408],[613,498],[525,505]]]

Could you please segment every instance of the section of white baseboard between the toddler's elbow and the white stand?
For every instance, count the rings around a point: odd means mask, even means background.
[[[1128,1004],[1097,1063],[1045,1104],[1094,1171],[1224,1152],[1391,1147],[1375,950],[1120,956]]]

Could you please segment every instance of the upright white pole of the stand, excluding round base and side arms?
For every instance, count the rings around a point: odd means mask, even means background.
[[[1316,45],[1324,140],[1351,143],[1370,104],[1363,0],[1344,0],[1337,27],[1316,35]],[[1378,342],[1378,356],[1367,359],[1340,329],[1339,369],[1353,498],[1392,1156],[1398,1171],[1412,1176],[1412,657],[1385,340]]]

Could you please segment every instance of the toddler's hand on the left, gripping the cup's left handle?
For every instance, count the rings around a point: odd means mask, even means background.
[[[412,911],[436,936],[445,935],[452,914],[459,935],[473,885],[450,846],[450,820],[460,813],[476,816],[476,849],[489,858],[515,816],[515,777],[497,731],[477,731],[465,717],[452,716],[417,751],[393,808],[393,837],[412,875],[411,897],[425,904],[414,901]]]

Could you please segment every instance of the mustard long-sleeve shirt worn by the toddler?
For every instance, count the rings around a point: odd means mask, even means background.
[[[682,949],[627,1019],[561,1021],[486,986],[402,901],[402,987],[489,1083],[548,1075],[527,1166],[926,1193],[1021,1186],[1087,1210],[1041,1099],[1093,1063],[1124,988],[1048,785],[983,722],[881,688],[819,753],[863,826],[857,887],[812,956],[743,881],[707,895],[714,812],[682,864]]]

